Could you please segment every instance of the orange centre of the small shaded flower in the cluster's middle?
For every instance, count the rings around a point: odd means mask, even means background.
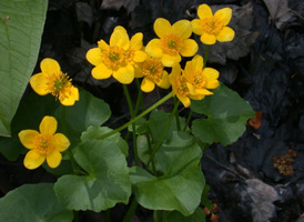
[[[142,72],[154,81],[160,81],[163,74],[163,65],[160,60],[151,58],[144,61]]]

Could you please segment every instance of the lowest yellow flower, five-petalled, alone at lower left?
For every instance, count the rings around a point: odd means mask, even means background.
[[[21,143],[30,150],[24,158],[24,167],[29,170],[37,169],[47,159],[50,168],[57,168],[62,159],[60,152],[70,147],[70,141],[64,134],[55,133],[57,120],[53,117],[44,117],[39,130],[40,133],[36,130],[22,130],[18,134]]]

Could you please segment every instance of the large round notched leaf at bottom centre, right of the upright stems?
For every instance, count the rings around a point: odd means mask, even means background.
[[[176,210],[185,216],[192,214],[200,204],[205,183],[200,168],[201,157],[193,137],[173,132],[172,140],[155,154],[155,165],[162,176],[154,176],[138,167],[130,170],[138,202],[151,210]]]

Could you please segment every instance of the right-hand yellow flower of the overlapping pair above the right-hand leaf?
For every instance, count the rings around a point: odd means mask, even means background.
[[[213,68],[203,68],[203,58],[196,54],[191,61],[186,62],[184,78],[191,95],[203,99],[207,94],[213,94],[206,89],[215,89],[220,85],[219,71]],[[191,98],[191,97],[190,97]]]

